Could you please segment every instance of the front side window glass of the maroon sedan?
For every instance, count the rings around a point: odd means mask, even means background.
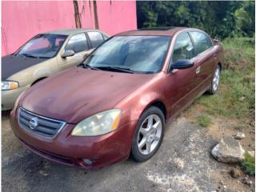
[[[178,59],[190,59],[194,58],[194,56],[194,46],[191,42],[190,35],[187,33],[180,34],[176,39],[170,64],[173,65]]]

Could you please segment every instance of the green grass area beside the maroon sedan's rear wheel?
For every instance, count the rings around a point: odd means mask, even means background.
[[[254,39],[233,38],[222,42],[224,62],[219,90],[202,95],[196,103],[205,106],[205,113],[254,121]],[[200,121],[199,121],[200,122]]]

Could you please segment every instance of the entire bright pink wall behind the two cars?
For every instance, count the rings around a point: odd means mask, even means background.
[[[79,1],[83,28],[94,28],[94,2]],[[98,26],[107,34],[137,28],[135,1],[97,1]],[[75,28],[72,1],[2,1],[2,55],[10,54],[35,34]]]

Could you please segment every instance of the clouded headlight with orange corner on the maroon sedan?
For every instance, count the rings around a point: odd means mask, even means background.
[[[79,122],[74,127],[71,135],[74,136],[96,136],[107,134],[118,128],[121,116],[121,110],[106,110],[98,114],[94,114],[89,118]]]

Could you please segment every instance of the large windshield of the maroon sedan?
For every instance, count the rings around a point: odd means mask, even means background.
[[[116,70],[152,74],[162,69],[170,36],[116,36],[99,46],[85,66],[100,70]]]

